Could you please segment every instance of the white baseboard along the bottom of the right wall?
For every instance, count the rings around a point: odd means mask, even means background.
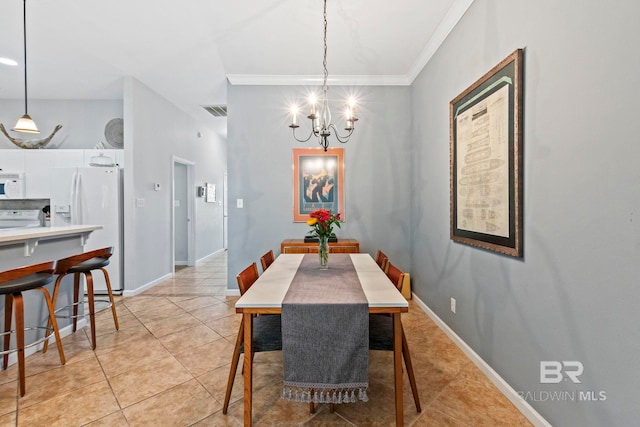
[[[507,383],[491,366],[478,354],[473,351],[469,345],[462,340],[438,315],[433,312],[420,298],[415,294],[412,294],[413,300],[418,306],[426,313],[427,316],[435,322],[436,325],[467,355],[467,357],[482,371],[483,374],[489,378],[489,380],[505,395],[507,399],[518,410],[527,417],[527,419],[535,426],[539,427],[551,427],[551,424],[545,420],[529,403],[522,399],[518,393]]]

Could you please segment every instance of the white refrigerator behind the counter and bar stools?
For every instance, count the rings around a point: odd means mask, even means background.
[[[114,292],[124,289],[122,169],[88,167],[51,169],[51,225],[102,225],[89,235],[85,252],[113,246],[106,267]],[[104,294],[102,272],[93,272],[94,292]]]

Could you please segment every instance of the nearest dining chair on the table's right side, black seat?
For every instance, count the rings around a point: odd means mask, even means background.
[[[386,263],[385,273],[396,289],[401,291],[405,273],[390,262]],[[400,329],[402,330],[402,356],[405,367],[407,368],[407,375],[409,376],[413,401],[415,402],[416,410],[421,412],[420,396],[418,396],[416,377],[413,373],[409,343],[404,334],[402,323],[400,323]],[[369,315],[369,350],[393,351],[393,318],[391,316],[387,314]]]

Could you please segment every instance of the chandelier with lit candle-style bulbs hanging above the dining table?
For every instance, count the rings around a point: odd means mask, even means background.
[[[318,109],[316,108],[316,104],[318,103],[318,99],[315,94],[312,94],[309,97],[309,107],[310,114],[307,116],[309,120],[311,120],[311,132],[306,139],[299,139],[296,136],[296,129],[300,126],[297,124],[297,115],[298,108],[297,106],[293,106],[291,108],[291,124],[289,127],[293,130],[293,137],[298,142],[307,142],[311,139],[312,136],[318,138],[318,143],[327,151],[329,147],[329,137],[333,134],[336,139],[341,143],[346,143],[349,141],[353,130],[355,129],[355,122],[358,121],[358,118],[355,115],[355,99],[351,98],[347,101],[347,107],[344,112],[346,127],[344,128],[347,131],[346,135],[340,135],[336,126],[331,122],[331,110],[329,110],[329,98],[327,96],[327,92],[329,88],[327,87],[327,78],[329,77],[329,72],[327,71],[327,0],[324,0],[324,52],[322,58],[322,67],[324,69],[324,79],[322,82],[322,98],[320,99],[320,111],[318,113]]]

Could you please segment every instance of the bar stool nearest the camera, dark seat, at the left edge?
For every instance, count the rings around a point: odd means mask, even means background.
[[[56,322],[53,310],[53,302],[49,291],[44,286],[53,280],[54,262],[44,262],[26,267],[16,268],[0,273],[0,295],[5,296],[4,305],[4,332],[0,335],[4,336],[4,350],[0,352],[3,357],[3,369],[7,368],[9,362],[9,353],[18,353],[18,377],[20,381],[20,396],[24,396],[26,391],[25,385],[25,369],[24,369],[24,349],[37,345],[42,341],[48,340],[51,334],[56,337],[58,346],[58,354],[60,355],[60,363],[65,364],[64,351],[62,350],[62,340],[58,332],[58,323]],[[37,289],[44,295],[47,309],[49,311],[49,324],[44,326],[26,327],[24,325],[24,301],[22,292]],[[11,330],[12,311],[15,309],[16,329]],[[29,330],[46,329],[45,337],[26,345],[24,344],[24,332]],[[10,349],[11,334],[16,334],[16,348]]]

